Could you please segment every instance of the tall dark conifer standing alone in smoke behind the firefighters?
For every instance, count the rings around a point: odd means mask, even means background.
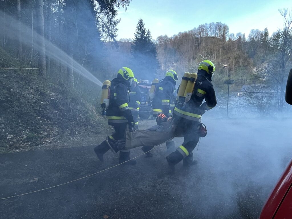
[[[157,60],[156,45],[152,40],[150,30],[146,31],[142,19],[138,21],[131,45],[131,66],[135,77],[152,80],[157,73],[159,63]]]

